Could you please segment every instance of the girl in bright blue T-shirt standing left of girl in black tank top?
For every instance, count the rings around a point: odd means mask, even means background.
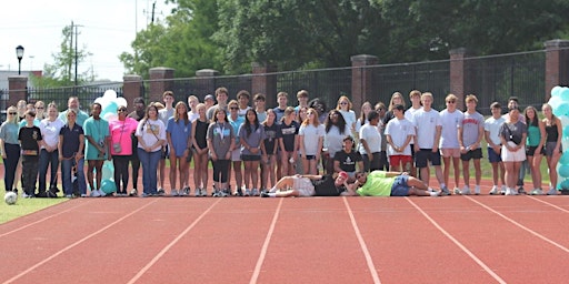
[[[188,118],[188,108],[186,103],[176,104],[173,118],[168,120],[166,126],[166,138],[168,149],[170,150],[170,195],[190,195],[188,184],[188,156],[191,156],[191,121]],[[180,179],[180,191],[176,190],[177,175]],[[183,186],[183,187],[182,187]]]

